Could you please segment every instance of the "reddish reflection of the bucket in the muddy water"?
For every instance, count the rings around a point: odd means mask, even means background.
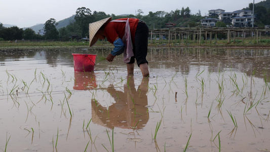
[[[97,88],[94,72],[74,72],[74,90],[88,90]]]

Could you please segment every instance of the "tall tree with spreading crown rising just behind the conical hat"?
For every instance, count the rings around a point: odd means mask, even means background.
[[[74,17],[76,24],[78,24],[81,31],[81,36],[85,37],[88,35],[89,23],[93,22],[92,11],[85,7],[78,8]]]

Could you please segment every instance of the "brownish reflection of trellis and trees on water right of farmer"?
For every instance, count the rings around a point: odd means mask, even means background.
[[[261,75],[268,65],[269,50],[263,49],[223,49],[223,48],[151,48],[148,61],[153,69],[176,69],[183,74],[191,69],[207,66],[208,72],[219,72],[228,68],[237,69],[250,76],[249,68],[256,67],[255,76]],[[266,65],[266,66],[265,66]],[[252,69],[252,70],[254,70]],[[269,73],[267,71],[267,73]]]

